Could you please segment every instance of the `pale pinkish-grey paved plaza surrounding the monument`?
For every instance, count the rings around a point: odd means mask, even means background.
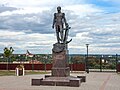
[[[86,75],[80,87],[31,86],[31,79],[44,75],[1,76],[0,90],[120,90],[120,75],[107,72],[72,73],[71,76]]]

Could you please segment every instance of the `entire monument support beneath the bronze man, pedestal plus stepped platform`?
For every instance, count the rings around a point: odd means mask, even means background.
[[[52,75],[46,75],[45,79],[32,79],[32,85],[48,85],[48,86],[71,86],[79,87],[81,82],[86,81],[86,77],[70,76],[70,68],[68,64],[68,50],[65,49],[65,45],[61,43],[54,44],[53,47],[53,66]]]

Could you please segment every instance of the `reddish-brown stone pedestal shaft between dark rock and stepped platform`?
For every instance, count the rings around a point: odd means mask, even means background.
[[[60,53],[53,52],[52,76],[55,76],[55,77],[70,76],[70,68],[68,67],[66,53],[67,53],[66,50]]]

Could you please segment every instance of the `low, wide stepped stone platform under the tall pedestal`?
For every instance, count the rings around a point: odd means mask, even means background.
[[[73,76],[68,77],[46,77],[45,79],[32,79],[33,86],[47,85],[47,86],[70,86],[79,87],[81,85],[82,78]]]

